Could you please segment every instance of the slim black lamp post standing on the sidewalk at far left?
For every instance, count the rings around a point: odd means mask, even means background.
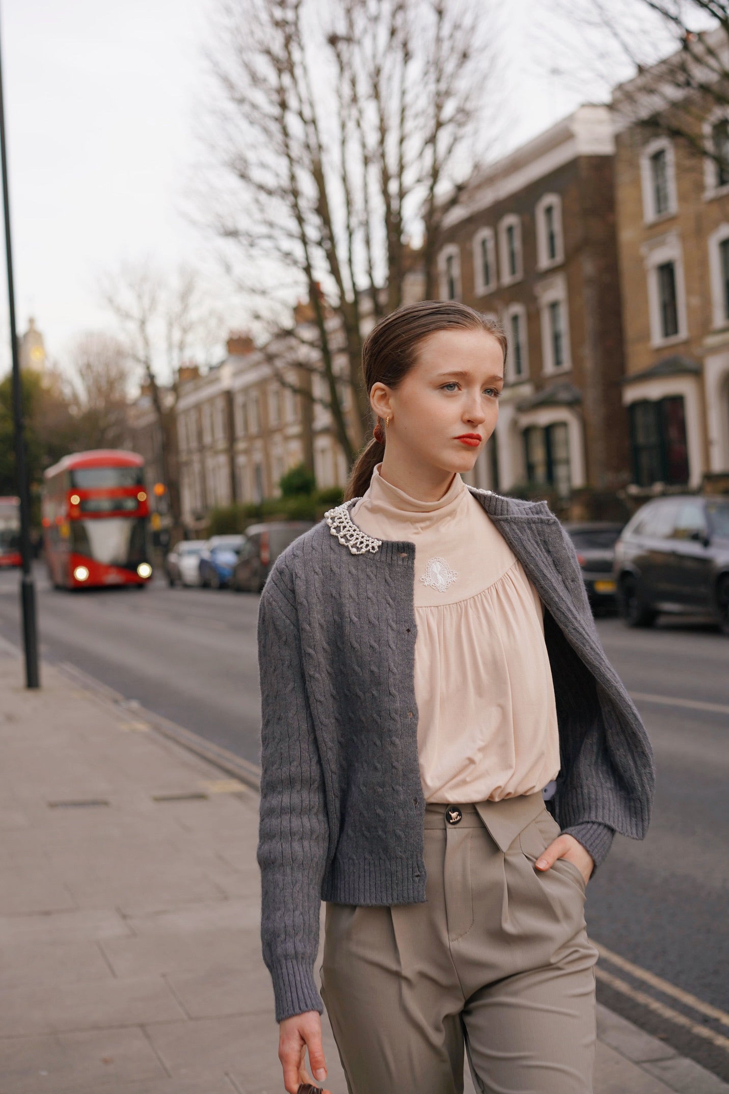
[[[17,330],[15,327],[15,290],[13,284],[13,253],[10,243],[10,199],[8,197],[8,154],[5,151],[5,107],[2,97],[2,50],[0,49],[0,156],[2,159],[2,202],[5,214],[5,255],[8,258],[8,299],[10,304],[10,341],[13,359],[13,418],[15,422],[15,467],[17,472],[17,493],[21,499],[21,606],[23,610],[23,644],[25,647],[25,685],[39,687],[38,676],[38,630],[35,619],[35,584],[33,582],[31,556],[31,491],[25,458],[25,437],[23,433],[23,394],[21,389],[21,365],[17,352]]]

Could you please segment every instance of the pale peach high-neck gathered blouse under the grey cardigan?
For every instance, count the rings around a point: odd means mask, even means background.
[[[541,601],[460,475],[438,501],[387,482],[378,464],[353,522],[415,545],[418,753],[426,802],[499,801],[560,770]]]

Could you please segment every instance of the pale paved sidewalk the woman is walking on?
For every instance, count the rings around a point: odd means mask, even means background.
[[[48,665],[43,685],[0,647],[0,1094],[279,1094],[256,792]],[[604,1009],[600,1034],[596,1094],[729,1092]]]

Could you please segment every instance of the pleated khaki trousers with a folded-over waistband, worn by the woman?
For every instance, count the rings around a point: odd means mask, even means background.
[[[585,882],[534,861],[541,793],[425,810],[426,903],[327,903],[321,996],[349,1094],[591,1094]],[[460,819],[458,814],[460,813]],[[449,823],[447,816],[456,823]]]

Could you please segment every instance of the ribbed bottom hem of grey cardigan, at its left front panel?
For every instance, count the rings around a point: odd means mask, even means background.
[[[425,901],[425,863],[419,854],[397,859],[339,858],[321,886],[321,899],[334,904],[392,905]]]

